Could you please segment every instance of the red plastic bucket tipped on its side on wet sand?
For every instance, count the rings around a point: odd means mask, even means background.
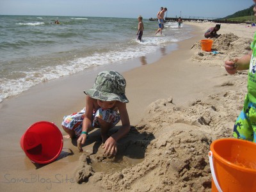
[[[51,163],[61,153],[63,136],[55,124],[36,122],[20,138],[20,147],[33,163]]]

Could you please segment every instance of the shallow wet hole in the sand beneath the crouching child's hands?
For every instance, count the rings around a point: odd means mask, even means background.
[[[131,129],[127,138],[118,143],[118,152],[115,157],[107,157],[104,154],[102,143],[99,142],[94,144],[92,154],[83,152],[75,173],[76,182],[79,184],[88,182],[91,176],[95,176],[92,180],[101,180],[100,178],[104,174],[122,172],[125,168],[136,166],[136,164],[144,161],[145,150],[154,136],[145,132],[140,134],[137,131],[134,135],[134,131],[135,129],[133,131]],[[97,177],[100,178],[97,179]]]

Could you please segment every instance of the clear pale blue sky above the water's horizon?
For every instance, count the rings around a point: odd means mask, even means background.
[[[0,15],[156,18],[161,6],[165,17],[216,19],[252,6],[252,0],[0,0]]]

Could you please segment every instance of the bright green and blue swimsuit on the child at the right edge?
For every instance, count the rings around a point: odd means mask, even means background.
[[[248,93],[244,99],[243,111],[234,125],[233,136],[256,143],[256,33],[251,48],[253,54],[248,72]]]

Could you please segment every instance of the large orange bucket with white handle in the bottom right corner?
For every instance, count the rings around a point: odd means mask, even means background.
[[[256,191],[256,143],[224,138],[210,148],[212,191]]]

